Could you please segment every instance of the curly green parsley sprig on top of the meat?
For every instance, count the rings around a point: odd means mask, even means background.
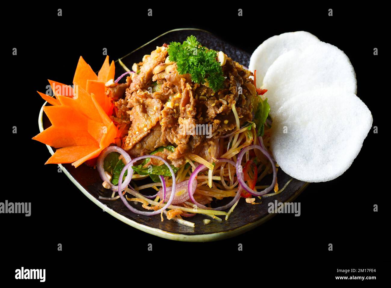
[[[171,42],[168,53],[169,60],[176,62],[179,74],[189,73],[192,81],[198,84],[208,81],[213,91],[222,88],[224,77],[220,63],[216,60],[217,52],[202,47],[195,36],[187,37],[183,44]]]

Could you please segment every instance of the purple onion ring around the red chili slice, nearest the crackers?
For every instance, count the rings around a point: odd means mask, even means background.
[[[273,181],[272,181],[271,185],[269,187],[267,187],[265,190],[262,190],[260,192],[254,191],[253,189],[248,187],[248,185],[246,184],[246,182],[244,182],[244,179],[243,179],[243,172],[242,172],[243,168],[241,167],[242,166],[242,159],[243,159],[243,156],[246,153],[246,151],[251,150],[251,149],[260,150],[265,155],[265,157],[267,159],[269,159],[269,161],[271,163],[271,167],[273,168]],[[241,169],[239,169],[239,167],[241,167]],[[246,190],[251,195],[262,196],[263,194],[266,194],[267,192],[269,192],[271,189],[274,188],[274,185],[276,184],[276,179],[277,179],[277,170],[276,170],[276,166],[274,165],[273,159],[270,157],[267,150],[265,150],[264,148],[262,148],[259,145],[250,145],[250,146],[243,148],[242,151],[240,151],[240,153],[238,155],[238,160],[236,162],[236,176],[239,180],[240,186],[243,187],[244,190]]]

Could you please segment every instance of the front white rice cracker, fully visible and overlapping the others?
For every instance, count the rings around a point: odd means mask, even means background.
[[[271,150],[290,176],[325,182],[350,167],[371,127],[371,112],[355,94],[313,90],[292,97],[276,112]]]

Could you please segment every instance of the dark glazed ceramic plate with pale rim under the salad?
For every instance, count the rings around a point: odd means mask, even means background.
[[[143,55],[149,54],[152,50],[156,49],[156,46],[161,46],[163,43],[170,43],[171,41],[184,41],[187,36],[191,34],[196,36],[203,46],[217,51],[224,51],[233,60],[248,67],[250,54],[237,49],[225,41],[222,41],[207,31],[199,29],[176,29],[166,32],[165,34],[162,34],[144,44],[142,47],[127,54],[121,58],[121,61],[127,67],[131,67],[133,63],[139,62],[140,59],[143,58]],[[119,65],[118,61],[116,62],[115,68],[116,77],[125,72]],[[49,126],[50,121],[46,115],[44,115],[43,109],[41,109],[41,112],[39,113],[39,129],[40,131],[43,131],[43,129]],[[54,153],[50,146],[48,146],[48,149],[51,154]],[[75,168],[71,164],[64,164],[60,165],[60,167],[70,180],[101,209],[104,209],[109,214],[139,230],[159,237],[178,241],[215,241],[233,237],[253,229],[269,220],[274,215],[267,212],[267,203],[274,202],[274,200],[278,200],[278,202],[291,202],[301,193],[301,191],[305,189],[305,187],[307,187],[308,184],[306,182],[293,179],[282,193],[267,198],[267,201],[266,198],[264,198],[264,203],[259,205],[251,205],[246,203],[244,200],[241,200],[230,215],[228,221],[225,221],[224,216],[222,216],[222,221],[211,220],[209,224],[204,225],[202,220],[208,217],[199,214],[188,219],[195,223],[195,227],[191,228],[167,219],[162,222],[159,215],[152,217],[137,215],[129,211],[120,200],[99,200],[99,196],[111,196],[111,191],[102,187],[102,180],[100,180],[97,170],[91,169],[85,165]],[[291,177],[289,175],[279,169],[278,184],[280,187],[283,187],[283,185],[290,179]],[[264,181],[265,183],[263,185],[270,183],[271,175],[266,177]],[[131,205],[133,205],[133,203]]]

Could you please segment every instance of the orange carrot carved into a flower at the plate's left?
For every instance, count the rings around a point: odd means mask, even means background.
[[[77,167],[115,142],[118,130],[109,117],[112,104],[105,86],[114,74],[114,61],[109,65],[108,56],[98,75],[80,57],[73,88],[49,80],[54,97],[38,92],[53,105],[43,107],[52,126],[32,138],[57,148],[45,164],[72,163]]]

